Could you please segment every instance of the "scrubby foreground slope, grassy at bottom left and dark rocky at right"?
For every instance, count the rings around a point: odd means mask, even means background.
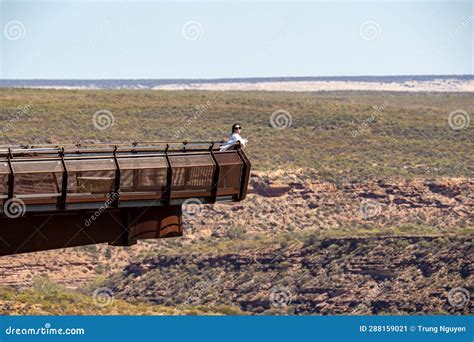
[[[469,312],[469,306],[449,305],[447,292],[469,282],[472,231],[420,237],[352,233],[358,237],[295,232],[249,234],[238,242],[221,238],[191,246],[163,241],[113,276],[98,276],[74,290],[47,277],[35,277],[23,287],[0,287],[0,313]],[[374,288],[380,292],[374,294]]]

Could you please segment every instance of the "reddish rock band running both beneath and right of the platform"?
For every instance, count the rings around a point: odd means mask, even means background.
[[[420,225],[428,227],[430,234],[456,234],[474,226],[474,181],[466,178],[350,183],[319,180],[316,171],[280,170],[252,172],[249,190],[244,202],[206,205],[197,214],[187,215],[185,236],[179,243],[228,237],[236,228],[261,236],[341,229],[347,234],[354,228],[413,235],[420,233]],[[48,275],[55,282],[77,287],[97,274],[119,271],[159,245],[160,241],[128,249],[98,245],[1,257],[0,285],[23,285],[34,276]]]

